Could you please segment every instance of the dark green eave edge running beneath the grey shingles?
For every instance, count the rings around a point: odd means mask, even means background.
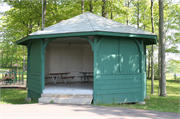
[[[44,38],[63,38],[63,37],[79,37],[79,36],[94,36],[94,35],[141,38],[146,43],[146,45],[157,44],[157,35],[128,34],[128,33],[104,32],[104,31],[29,35],[25,38],[22,38],[22,39],[16,41],[16,44],[28,45],[31,41],[38,40],[38,39],[44,39]]]

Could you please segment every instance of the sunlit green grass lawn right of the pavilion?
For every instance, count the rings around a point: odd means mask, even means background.
[[[174,80],[166,81],[166,91],[168,97],[158,96],[158,85],[159,80],[154,81],[154,94],[151,94],[151,80],[147,80],[147,95],[150,96],[150,99],[145,99],[146,104],[102,104],[102,106],[111,106],[111,107],[128,107],[136,109],[146,109],[154,111],[163,111],[163,112],[174,112],[180,113],[180,83],[174,82]]]

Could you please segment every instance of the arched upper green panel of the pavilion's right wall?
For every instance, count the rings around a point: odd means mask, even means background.
[[[98,49],[98,73],[140,73],[140,52],[135,41],[106,37]]]

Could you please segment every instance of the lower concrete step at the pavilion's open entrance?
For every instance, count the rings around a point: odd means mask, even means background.
[[[92,98],[57,98],[41,97],[39,103],[60,103],[60,104],[91,104]]]

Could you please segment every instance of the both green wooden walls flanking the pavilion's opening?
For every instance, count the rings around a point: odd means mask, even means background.
[[[28,97],[44,89],[42,40],[28,47]],[[145,44],[135,38],[94,37],[94,103],[141,102],[146,97]]]

